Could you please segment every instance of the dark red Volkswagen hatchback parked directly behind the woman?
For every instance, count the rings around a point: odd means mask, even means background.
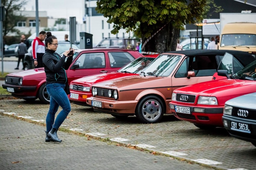
[[[66,70],[69,83],[72,80],[100,73],[114,72],[130,63],[142,54],[138,51],[114,48],[75,50],[74,59]],[[5,77],[4,89],[17,98],[34,101],[39,98],[48,104],[50,96],[45,88],[44,68],[31,69],[8,74]]]

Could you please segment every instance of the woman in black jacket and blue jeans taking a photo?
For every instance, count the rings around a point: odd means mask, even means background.
[[[46,74],[46,89],[50,95],[50,108],[46,116],[46,138],[45,142],[61,142],[57,131],[68,116],[71,106],[67,94],[69,92],[68,78],[66,71],[73,59],[73,51],[67,50],[61,57],[55,51],[58,47],[58,40],[51,32],[47,32],[45,41],[45,54],[43,56],[44,72]],[[67,61],[65,62],[65,59]],[[65,90],[64,90],[65,89]],[[62,107],[54,122],[55,113]]]

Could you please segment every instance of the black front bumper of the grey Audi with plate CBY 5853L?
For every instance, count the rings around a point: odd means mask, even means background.
[[[226,125],[224,123],[223,124],[224,128],[227,129],[230,136],[248,142],[256,143],[256,120],[236,118],[234,116],[223,115],[222,121],[227,122]],[[239,129],[232,128],[231,122],[239,122],[242,124],[249,125],[250,133],[248,133],[248,131],[238,131]]]

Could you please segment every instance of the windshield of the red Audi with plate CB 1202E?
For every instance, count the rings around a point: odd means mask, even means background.
[[[256,80],[256,60],[233,75],[234,78]]]

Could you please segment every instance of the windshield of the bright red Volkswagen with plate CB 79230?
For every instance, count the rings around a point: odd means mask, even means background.
[[[131,63],[128,63],[126,66],[123,66],[123,68],[118,70],[118,72],[130,72],[134,74],[140,73],[154,59],[155,58],[152,57],[139,57]]]

